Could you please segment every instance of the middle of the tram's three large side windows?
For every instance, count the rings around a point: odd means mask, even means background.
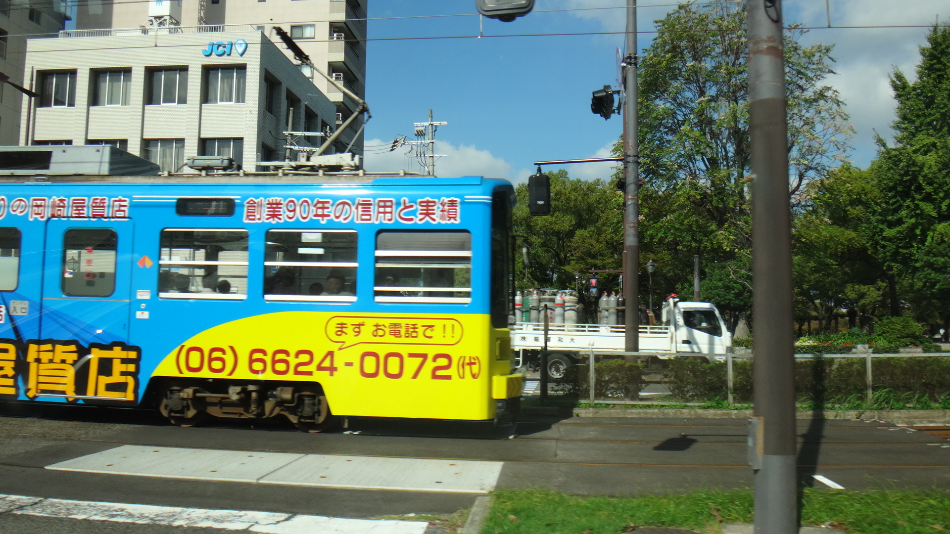
[[[355,230],[269,230],[266,300],[356,300]]]

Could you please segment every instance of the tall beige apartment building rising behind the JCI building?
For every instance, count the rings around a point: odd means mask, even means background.
[[[4,0],[0,0],[2,2]],[[252,26],[279,43],[274,27],[286,30],[314,65],[347,86],[360,98],[366,94],[367,0],[88,0],[78,2],[75,34],[96,29],[138,29],[154,23],[149,10],[156,3],[177,3],[174,23],[182,27]],[[154,12],[154,11],[153,11]],[[292,54],[279,47],[293,60]],[[336,105],[335,123],[341,124],[356,109],[349,97],[319,74],[299,66],[320,92]],[[344,146],[361,130],[360,120],[343,132]],[[354,146],[360,148],[360,134]]]

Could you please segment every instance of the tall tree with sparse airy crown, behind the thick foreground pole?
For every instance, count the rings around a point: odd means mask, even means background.
[[[692,284],[695,254],[715,279],[711,291],[715,284],[725,291],[718,296],[748,278],[745,13],[742,2],[680,5],[656,21],[640,62],[641,256],[660,264],[670,290]],[[844,160],[851,133],[838,93],[824,85],[831,47],[805,47],[802,33],[792,29],[785,41],[789,200],[800,209],[807,184]],[[734,282],[728,291],[724,274]]]

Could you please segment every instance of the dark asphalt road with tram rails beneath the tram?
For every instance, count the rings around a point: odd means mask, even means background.
[[[847,489],[950,487],[950,441],[880,421],[799,421],[803,484]],[[324,434],[282,421],[217,421],[180,429],[142,410],[0,404],[0,494],[130,505],[257,510],[339,518],[447,515],[477,495],[276,486],[70,472],[44,467],[121,445],[504,462],[498,486],[637,495],[750,486],[741,419],[523,418],[517,433],[487,423],[352,419]],[[2,508],[0,508],[2,512]],[[0,534],[191,532],[0,513]],[[201,532],[217,532],[201,528]],[[221,530],[221,532],[233,532]],[[435,532],[430,529],[429,532]]]

